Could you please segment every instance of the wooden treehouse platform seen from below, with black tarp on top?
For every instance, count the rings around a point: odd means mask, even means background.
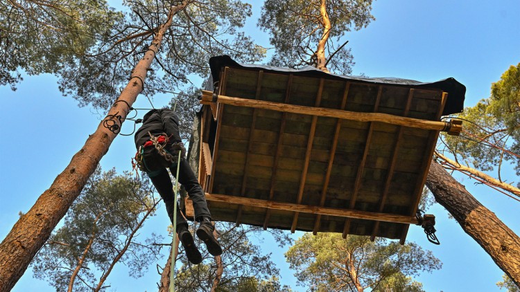
[[[214,220],[404,243],[465,86],[209,64],[190,158]]]

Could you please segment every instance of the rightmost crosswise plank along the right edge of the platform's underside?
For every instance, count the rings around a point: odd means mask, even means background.
[[[437,118],[440,119],[442,116],[442,111],[444,110],[444,105],[446,104],[446,101],[448,100],[448,93],[443,92],[442,93],[442,100],[439,105],[439,111],[437,112]],[[421,168],[421,172],[423,175],[422,179],[417,181],[417,184],[415,185],[415,202],[410,208],[410,214],[412,216],[415,216],[415,212],[417,212],[417,208],[419,208],[419,201],[421,200],[421,194],[422,194],[422,188],[424,188],[424,183],[426,183],[426,176],[428,176],[428,170],[430,169],[431,165],[431,159],[433,157],[433,152],[435,151],[435,145],[437,144],[437,138],[439,138],[439,131],[432,131],[430,134],[430,138],[428,139],[428,149],[426,149],[426,152],[424,154],[423,158],[423,164]],[[406,240],[406,235],[408,235],[408,228],[410,228],[409,225],[404,226],[403,232],[401,233],[401,239],[399,240],[400,244],[404,244],[404,241]]]

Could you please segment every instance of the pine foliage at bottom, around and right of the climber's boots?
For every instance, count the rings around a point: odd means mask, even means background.
[[[218,222],[216,228],[220,231],[218,241],[225,250],[221,257],[223,274],[216,291],[290,291],[287,287],[280,287],[276,277],[279,269],[272,262],[270,253],[263,253],[261,246],[250,241],[250,237],[260,232],[265,235],[266,231],[255,226],[236,227],[234,223],[225,222]],[[268,232],[281,245],[291,243],[286,232]],[[198,241],[198,246],[203,245]],[[200,249],[202,251],[204,248]],[[210,291],[216,277],[214,258],[205,253],[202,264],[191,266],[184,256],[184,250],[179,255],[177,263],[182,262],[182,266],[176,273],[175,288],[179,291]]]

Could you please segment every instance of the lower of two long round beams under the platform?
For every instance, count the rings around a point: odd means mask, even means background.
[[[393,223],[416,224],[415,216],[393,215],[376,212],[365,212],[358,210],[345,210],[337,208],[325,208],[318,206],[306,206],[295,203],[282,203],[276,201],[268,201],[261,199],[250,199],[237,196],[227,196],[225,194],[209,194],[206,193],[207,201],[215,201],[221,203],[233,203],[237,205],[252,206],[259,208],[267,208],[269,210],[284,210],[288,212],[302,212],[309,214],[320,214],[336,217],[349,217],[353,219],[379,220]]]

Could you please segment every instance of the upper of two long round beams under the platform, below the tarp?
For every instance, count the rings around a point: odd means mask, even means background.
[[[208,104],[208,102],[211,102],[212,98],[213,93],[210,91],[202,91],[202,100],[200,103]],[[222,104],[232,104],[237,107],[256,107],[259,109],[269,109],[271,111],[284,111],[288,113],[300,113],[309,116],[324,116],[329,118],[343,118],[345,120],[357,120],[359,122],[385,122],[392,125],[435,131],[447,131],[450,127],[449,122],[405,118],[390,115],[388,113],[361,113],[356,111],[342,111],[340,109],[327,109],[323,107],[304,107],[302,105],[284,104],[281,102],[232,98],[226,95],[218,95],[218,102]],[[460,131],[462,131],[462,125],[451,124],[450,133],[460,133]]]

